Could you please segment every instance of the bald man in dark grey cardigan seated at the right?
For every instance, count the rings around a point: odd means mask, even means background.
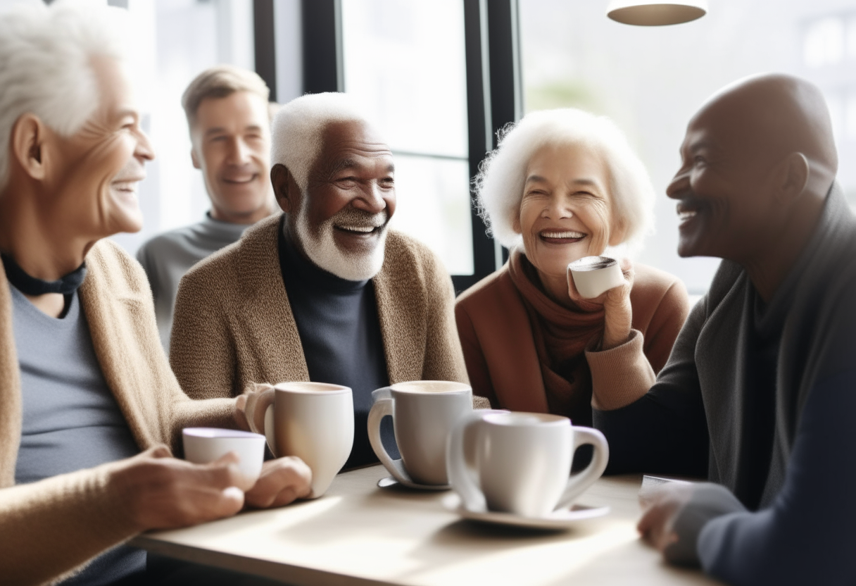
[[[639,531],[672,562],[854,583],[856,220],[823,96],[786,75],[726,87],[681,161],[678,252],[723,260],[656,382],[594,389],[609,469],[710,481],[645,495]]]

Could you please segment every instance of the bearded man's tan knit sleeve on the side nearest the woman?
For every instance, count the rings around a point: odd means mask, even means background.
[[[443,265],[431,254],[425,263],[425,380],[469,383],[455,326],[455,288]]]

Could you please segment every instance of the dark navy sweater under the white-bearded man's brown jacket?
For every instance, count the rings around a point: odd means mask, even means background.
[[[345,468],[376,463],[366,423],[372,391],[389,385],[389,379],[374,285],[338,278],[315,266],[286,240],[282,228],[278,246],[309,380],[349,386],[354,394],[354,446]],[[394,446],[392,426],[388,420],[383,423],[384,444]]]

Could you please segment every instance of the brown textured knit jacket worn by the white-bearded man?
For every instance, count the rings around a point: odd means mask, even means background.
[[[309,380],[282,284],[281,217],[261,220],[181,279],[169,362],[192,398],[235,397],[251,382]],[[389,382],[467,382],[455,293],[437,257],[390,231],[383,267],[372,280]]]

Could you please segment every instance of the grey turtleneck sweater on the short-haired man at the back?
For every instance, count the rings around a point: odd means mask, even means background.
[[[223,222],[211,218],[211,212],[206,212],[205,219],[199,224],[159,234],[144,242],[137,251],[137,260],[146,270],[146,277],[152,285],[158,332],[167,352],[175,293],[181,277],[199,260],[232,242],[238,242],[251,225]]]

